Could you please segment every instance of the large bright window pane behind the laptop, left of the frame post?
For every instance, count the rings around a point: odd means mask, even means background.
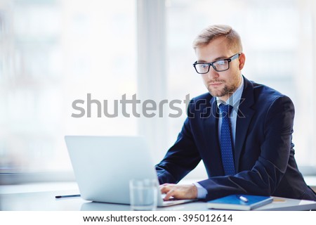
[[[1,1],[0,46],[0,172],[70,170],[66,134],[136,134],[96,104],[71,116],[88,94],[110,111],[136,93],[134,1]]]

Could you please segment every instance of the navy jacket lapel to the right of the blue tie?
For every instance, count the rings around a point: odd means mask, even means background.
[[[247,131],[251,118],[254,115],[254,110],[251,105],[254,104],[254,86],[248,79],[244,77],[244,91],[239,103],[239,110],[236,124],[236,137],[235,137],[235,168],[239,172],[239,160],[242,154],[242,147],[246,139]]]

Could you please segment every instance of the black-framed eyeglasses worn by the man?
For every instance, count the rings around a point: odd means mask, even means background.
[[[215,61],[213,63],[193,63],[193,66],[197,73],[200,75],[204,75],[209,72],[209,68],[212,66],[212,68],[217,72],[223,72],[225,70],[228,70],[230,68],[230,62],[236,58],[239,58],[240,53],[235,54],[234,56],[231,56],[230,58],[225,58],[222,60]]]

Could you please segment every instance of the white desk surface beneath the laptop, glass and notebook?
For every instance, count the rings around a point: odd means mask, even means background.
[[[8,190],[13,187],[0,187],[0,210],[6,211],[127,211],[129,205],[93,203],[81,198],[65,198],[56,200],[55,195],[71,195],[79,193],[77,185],[65,184],[56,186],[55,184],[45,184],[48,191],[39,191],[44,184],[37,186],[24,186],[25,193],[13,193]],[[49,188],[48,188],[49,187]],[[64,190],[60,189],[64,188]],[[73,188],[66,190],[65,188]],[[50,190],[49,190],[50,189]],[[60,190],[58,190],[60,189]],[[43,190],[43,189],[42,189]],[[17,191],[17,190],[15,190]],[[186,203],[183,205],[174,205],[171,207],[159,207],[157,210],[175,210],[175,211],[205,211],[209,210],[204,202]],[[316,202],[308,200],[296,200],[289,198],[275,198],[273,203],[259,207],[256,210],[316,210]]]

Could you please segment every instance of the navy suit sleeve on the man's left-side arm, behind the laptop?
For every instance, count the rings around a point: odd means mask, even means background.
[[[193,100],[189,104],[187,110],[190,115],[190,107]],[[168,150],[162,162],[156,165],[156,171],[159,184],[171,183],[176,184],[178,181],[194,169],[201,160],[197,146],[192,137],[189,117],[185,120],[183,127],[178,134],[176,143]]]

